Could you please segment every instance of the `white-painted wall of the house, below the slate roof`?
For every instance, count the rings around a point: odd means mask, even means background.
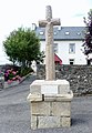
[[[62,60],[62,64],[70,64],[70,59],[74,60],[73,64],[86,64],[86,57],[83,54],[82,41],[54,41],[58,43],[58,55]],[[75,43],[75,52],[69,52],[69,44]],[[45,41],[41,41],[41,51],[45,51]]]

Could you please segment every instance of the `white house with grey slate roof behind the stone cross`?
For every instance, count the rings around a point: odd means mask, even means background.
[[[40,38],[41,51],[45,52],[45,28],[35,27]],[[86,64],[83,53],[84,27],[54,27],[54,52],[62,60],[62,64]]]

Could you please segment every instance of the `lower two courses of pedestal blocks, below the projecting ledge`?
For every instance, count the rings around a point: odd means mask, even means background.
[[[71,102],[34,101],[31,106],[31,129],[71,126]]]

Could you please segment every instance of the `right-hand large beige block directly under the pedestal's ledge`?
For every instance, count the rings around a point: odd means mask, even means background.
[[[70,102],[52,102],[52,115],[70,116],[71,115],[71,103]]]

